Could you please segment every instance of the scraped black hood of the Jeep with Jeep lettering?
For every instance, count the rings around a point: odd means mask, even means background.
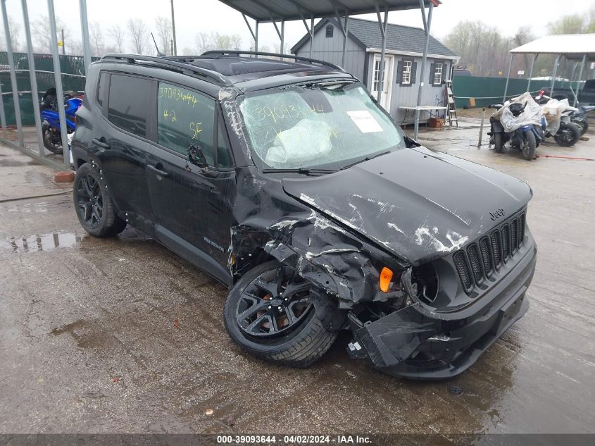
[[[532,195],[511,175],[425,147],[317,178],[284,179],[283,188],[413,265],[475,240]]]

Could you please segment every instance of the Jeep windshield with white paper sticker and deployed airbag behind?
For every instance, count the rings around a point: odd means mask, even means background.
[[[342,168],[403,146],[363,85],[296,86],[246,94],[239,105],[253,155],[268,168]]]

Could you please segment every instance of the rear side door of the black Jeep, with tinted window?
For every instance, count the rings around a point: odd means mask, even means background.
[[[104,83],[106,85],[104,85]],[[92,144],[116,209],[135,227],[151,233],[152,208],[146,152],[155,132],[157,82],[127,73],[102,73],[99,104],[106,120],[94,123]]]

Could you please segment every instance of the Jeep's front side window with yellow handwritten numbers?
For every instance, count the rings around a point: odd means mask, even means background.
[[[157,142],[180,154],[189,144],[201,147],[206,161],[215,166],[215,101],[189,89],[159,82]]]

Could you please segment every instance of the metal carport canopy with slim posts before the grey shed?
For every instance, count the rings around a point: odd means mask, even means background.
[[[382,50],[380,53],[380,69],[378,73],[378,85],[384,85],[384,52],[386,51],[386,36],[389,11],[402,11],[405,9],[420,9],[422,22],[425,31],[425,49],[422,57],[421,70],[423,73],[427,59],[427,45],[430,41],[430,25],[432,24],[432,8],[439,6],[441,0],[219,0],[221,3],[234,8],[242,13],[246,25],[254,39],[254,48],[258,51],[258,24],[273,23],[275,31],[281,39],[281,50],[283,53],[284,29],[286,20],[301,20],[310,35],[310,54],[312,56],[312,46],[314,40],[314,19],[327,18],[335,16],[339,20],[339,13],[345,16],[345,25],[341,27],[343,33],[343,63],[345,61],[345,46],[347,39],[347,18],[351,15],[376,13],[380,33],[382,35]],[[428,9],[427,17],[425,8]],[[380,12],[384,13],[384,20],[380,17]],[[256,27],[253,30],[246,17],[256,21]],[[306,18],[310,19],[310,26],[306,23]],[[277,26],[277,21],[281,22],[281,29]],[[420,82],[418,90],[418,107],[421,104],[423,82]],[[377,100],[380,102],[380,95],[383,87],[378,88]],[[415,110],[415,124],[413,130],[413,139],[418,137],[418,128],[420,120],[420,111]]]

